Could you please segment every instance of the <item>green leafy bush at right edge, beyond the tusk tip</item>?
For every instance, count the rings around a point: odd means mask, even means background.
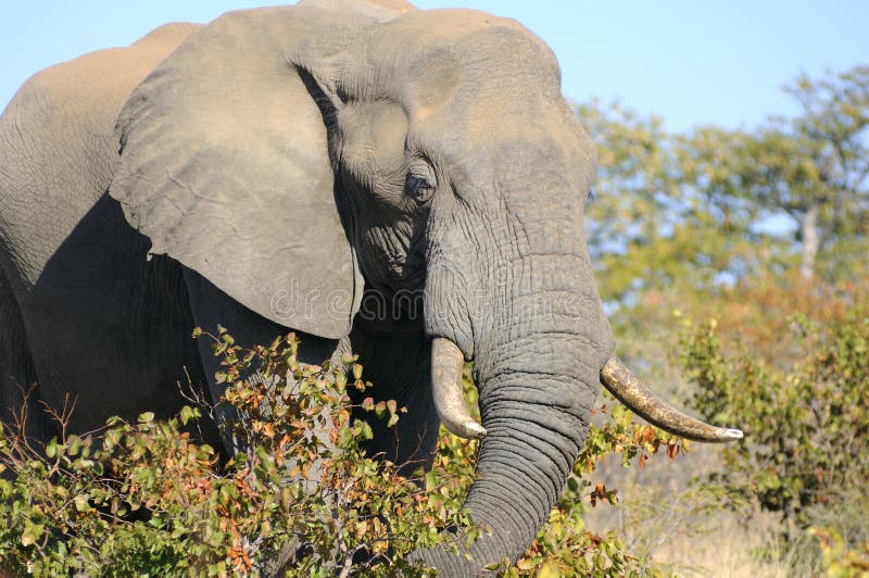
[[[869,309],[851,301],[833,323],[794,314],[788,327],[798,354],[782,361],[745,342],[727,353],[714,319],[687,324],[690,402],[745,430],[722,449],[718,480],[779,513],[789,533],[817,526],[858,548],[869,541]]]

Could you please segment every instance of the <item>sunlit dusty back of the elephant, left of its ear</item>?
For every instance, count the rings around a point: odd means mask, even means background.
[[[127,48],[90,52],[30,77],[0,116],[0,241],[32,286],[105,193],[115,120],[136,86],[197,24],[168,24]],[[50,222],[47,222],[50,221]],[[33,242],[34,229],[40,239]]]

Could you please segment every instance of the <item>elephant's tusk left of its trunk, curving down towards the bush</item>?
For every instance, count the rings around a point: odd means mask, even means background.
[[[442,337],[431,340],[431,392],[444,427],[459,438],[474,439],[486,434],[465,405],[462,367],[465,356],[458,347]]]

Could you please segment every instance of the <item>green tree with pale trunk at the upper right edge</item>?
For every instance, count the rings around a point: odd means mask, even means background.
[[[778,262],[798,263],[806,280],[820,265],[832,280],[869,255],[869,67],[802,75],[785,91],[799,115],[753,130],[700,128],[685,140],[682,166],[722,216],[740,215],[750,233],[791,236]],[[773,217],[790,226],[764,230]]]

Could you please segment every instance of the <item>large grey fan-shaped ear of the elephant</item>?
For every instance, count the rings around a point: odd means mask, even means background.
[[[314,46],[317,13],[228,13],[191,35],[121,112],[110,194],[152,254],[273,322],[340,338],[363,279],[336,203],[323,93],[288,60]]]

